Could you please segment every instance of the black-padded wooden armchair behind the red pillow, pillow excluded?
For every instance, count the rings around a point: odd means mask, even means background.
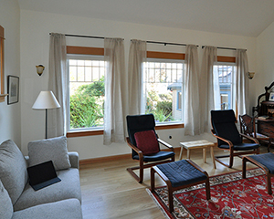
[[[129,134],[129,137],[126,140],[128,145],[132,148],[132,159],[139,162],[139,166],[127,168],[127,171],[132,174],[135,180],[137,180],[139,183],[142,183],[143,169],[152,167],[156,164],[175,161],[174,148],[172,145],[158,138],[154,129],[155,120],[153,114],[127,116],[126,119]],[[167,147],[170,151],[160,151],[158,143],[158,152],[155,152],[153,154],[144,154],[144,152],[137,147],[135,133],[147,130],[153,130],[153,133],[156,136],[157,141],[163,144],[163,146]],[[133,172],[135,170],[140,170],[139,176],[135,172]]]

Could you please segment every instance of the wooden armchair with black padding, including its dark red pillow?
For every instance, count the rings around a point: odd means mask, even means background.
[[[126,119],[129,134],[127,143],[132,148],[132,159],[139,162],[139,166],[127,168],[127,171],[132,174],[135,180],[142,183],[143,169],[156,164],[174,162],[174,148],[158,138],[154,129],[153,114],[127,116]],[[159,143],[170,151],[160,151]],[[140,170],[140,175],[133,172],[134,170]]]

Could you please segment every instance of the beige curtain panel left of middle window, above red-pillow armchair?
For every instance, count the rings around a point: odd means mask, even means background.
[[[144,63],[146,62],[146,42],[132,39],[129,55],[129,114],[138,115],[144,113],[144,92],[142,76]]]

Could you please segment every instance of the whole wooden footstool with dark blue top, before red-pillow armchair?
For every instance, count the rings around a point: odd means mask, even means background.
[[[151,168],[151,190],[155,193],[154,173],[157,173],[167,185],[169,212],[174,211],[173,193],[195,184],[205,183],[206,199],[210,199],[208,174],[191,160],[168,162]]]

